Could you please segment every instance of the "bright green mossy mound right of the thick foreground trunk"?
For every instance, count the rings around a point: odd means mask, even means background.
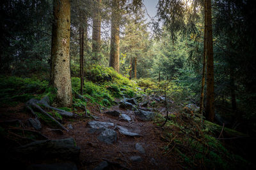
[[[92,104],[109,107],[115,104],[115,98],[134,97],[136,94],[143,94],[135,81],[129,80],[117,73],[112,67],[102,67],[94,65],[86,69],[86,79],[84,80],[84,97]],[[80,91],[80,78],[72,78],[72,88]],[[75,105],[86,102],[75,99]]]

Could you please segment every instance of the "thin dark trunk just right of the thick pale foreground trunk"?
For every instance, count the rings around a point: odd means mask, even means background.
[[[84,29],[80,26],[80,93],[83,95],[83,85],[84,85]]]

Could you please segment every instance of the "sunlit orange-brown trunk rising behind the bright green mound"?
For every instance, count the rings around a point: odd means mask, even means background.
[[[111,43],[109,67],[113,67],[119,73],[119,24],[120,24],[120,4],[118,0],[112,1],[111,15]]]

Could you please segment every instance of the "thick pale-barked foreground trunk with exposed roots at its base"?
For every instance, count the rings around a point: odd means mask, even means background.
[[[51,86],[56,88],[56,106],[72,105],[70,78],[70,1],[53,1]]]

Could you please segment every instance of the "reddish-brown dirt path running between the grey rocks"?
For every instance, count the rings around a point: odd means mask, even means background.
[[[163,146],[166,142],[161,141],[161,130],[155,127],[153,122],[143,122],[134,116],[134,111],[123,110],[118,106],[109,108],[108,111],[120,111],[132,118],[132,122],[120,120],[118,117],[112,117],[99,111],[93,111],[93,115],[97,118],[96,121],[111,122],[115,125],[121,125],[129,129],[130,132],[136,132],[141,137],[130,137],[120,134],[117,129],[117,142],[106,144],[97,139],[97,134],[92,134],[89,131],[88,122],[92,119],[80,118],[74,119],[73,122],[65,122],[65,126],[72,124],[73,129],[65,132],[63,135],[46,133],[49,138],[64,138],[72,136],[81,148],[79,169],[93,169],[100,162],[107,160],[112,162],[109,169],[122,169],[118,166],[127,167],[128,169],[179,169],[172,157],[163,156]],[[111,127],[114,129],[115,127]],[[44,134],[44,132],[43,132]],[[140,153],[136,150],[136,143],[140,143],[145,149],[145,153]],[[132,156],[140,156],[142,161],[134,162],[130,159]]]

